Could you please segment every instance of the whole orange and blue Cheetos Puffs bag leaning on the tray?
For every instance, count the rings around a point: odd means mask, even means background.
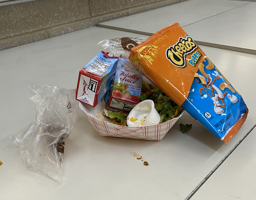
[[[225,144],[244,122],[242,96],[178,23],[133,47],[129,60]]]

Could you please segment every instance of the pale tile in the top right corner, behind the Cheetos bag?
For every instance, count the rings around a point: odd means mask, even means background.
[[[187,25],[195,40],[256,50],[256,2]],[[198,31],[200,30],[200,31]]]

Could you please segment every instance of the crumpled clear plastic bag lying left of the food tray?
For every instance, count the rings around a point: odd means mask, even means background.
[[[35,103],[35,120],[13,142],[27,169],[60,182],[64,140],[78,118],[75,89],[29,85],[28,95]]]

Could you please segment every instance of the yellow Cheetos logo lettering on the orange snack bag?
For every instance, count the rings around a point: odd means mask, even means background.
[[[185,55],[197,47],[191,37],[179,37],[176,44],[166,49],[166,58],[175,66],[185,66]]]

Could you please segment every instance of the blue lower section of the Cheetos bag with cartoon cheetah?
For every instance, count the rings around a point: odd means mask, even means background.
[[[217,137],[223,139],[228,129],[244,114],[247,106],[241,95],[223,79],[215,66],[212,69],[206,68],[209,64],[207,58],[202,63],[208,77],[203,76],[198,69],[189,95],[181,107]],[[230,88],[220,86],[224,83],[230,84]]]

